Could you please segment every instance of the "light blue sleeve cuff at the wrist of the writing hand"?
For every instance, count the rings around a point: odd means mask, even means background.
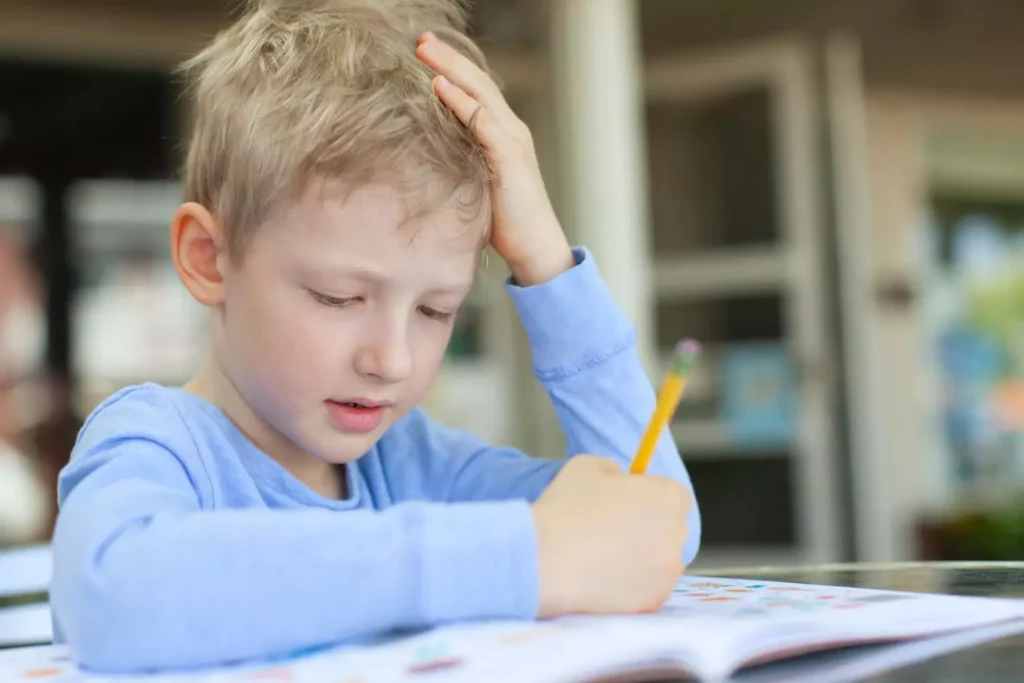
[[[441,514],[449,519],[421,535],[424,621],[536,618],[540,566],[529,504],[472,503]]]

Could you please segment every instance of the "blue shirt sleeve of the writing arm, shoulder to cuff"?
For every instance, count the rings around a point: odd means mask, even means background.
[[[213,489],[211,509],[202,465],[152,410],[90,422],[61,474],[51,608],[85,668],[216,666],[536,615],[526,503],[225,509]]]

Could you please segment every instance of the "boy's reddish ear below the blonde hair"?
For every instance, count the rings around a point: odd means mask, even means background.
[[[205,207],[187,202],[171,219],[171,260],[196,300],[216,306],[224,300],[226,247],[223,229]]]

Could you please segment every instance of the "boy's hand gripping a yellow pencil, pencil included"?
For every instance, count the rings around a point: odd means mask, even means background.
[[[693,502],[674,479],[633,474],[647,469],[698,352],[696,342],[676,347],[630,473],[608,458],[573,456],[534,504],[538,615],[647,612],[671,595]]]

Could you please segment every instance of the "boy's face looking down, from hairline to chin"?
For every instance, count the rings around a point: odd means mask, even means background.
[[[441,364],[481,226],[457,198],[412,220],[406,206],[382,186],[316,184],[224,268],[219,365],[301,453],[360,457]]]

